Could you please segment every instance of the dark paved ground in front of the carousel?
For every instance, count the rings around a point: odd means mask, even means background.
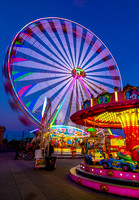
[[[35,169],[35,160],[0,153],[0,200],[129,200],[78,185],[69,170],[83,159],[57,159],[56,169]]]

